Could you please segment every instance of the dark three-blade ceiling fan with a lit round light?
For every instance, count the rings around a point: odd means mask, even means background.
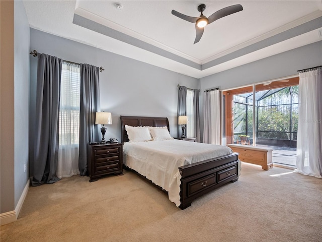
[[[186,20],[191,23],[196,23],[197,34],[196,34],[196,39],[195,39],[194,44],[199,42],[199,40],[201,39],[204,27],[207,24],[211,24],[212,22],[216,21],[217,19],[220,19],[220,18],[225,17],[227,15],[237,13],[237,12],[243,10],[243,6],[241,6],[240,4],[236,4],[236,5],[232,5],[232,6],[223,8],[223,9],[218,10],[217,12],[213,13],[208,18],[202,14],[203,11],[205,11],[205,9],[206,9],[206,5],[204,5],[204,4],[201,4],[198,6],[198,11],[201,13],[200,17],[190,17],[187,15],[181,14],[175,10],[172,10],[172,12],[171,12],[173,15],[177,16],[178,18],[181,18],[181,19]]]

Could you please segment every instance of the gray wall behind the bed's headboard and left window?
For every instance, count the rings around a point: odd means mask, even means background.
[[[105,138],[121,140],[120,115],[166,116],[171,135],[177,136],[178,87],[199,88],[198,79],[158,68],[89,45],[30,30],[30,50],[55,55],[66,61],[88,63],[105,70],[100,73],[101,110],[112,113]],[[37,58],[30,57],[30,152],[35,123]]]

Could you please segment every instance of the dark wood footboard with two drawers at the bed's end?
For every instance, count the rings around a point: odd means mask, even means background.
[[[179,167],[181,174],[180,208],[185,209],[196,198],[238,180],[238,153]]]

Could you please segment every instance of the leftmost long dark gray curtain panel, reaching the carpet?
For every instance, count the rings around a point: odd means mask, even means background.
[[[38,54],[35,160],[32,186],[55,183],[62,59]]]

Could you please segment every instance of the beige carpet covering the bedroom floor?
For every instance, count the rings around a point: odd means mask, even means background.
[[[136,174],[30,187],[5,241],[322,241],[322,179],[241,165],[241,175],[181,210]]]

